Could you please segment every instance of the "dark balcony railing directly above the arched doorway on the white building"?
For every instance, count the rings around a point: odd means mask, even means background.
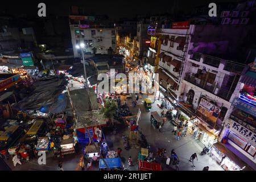
[[[191,82],[191,84],[199,86],[200,88],[207,90],[208,92],[211,92],[214,94],[215,85],[210,84],[209,82],[207,82],[205,80],[200,80],[199,78],[193,76],[192,73],[186,73],[185,80],[188,82]]]

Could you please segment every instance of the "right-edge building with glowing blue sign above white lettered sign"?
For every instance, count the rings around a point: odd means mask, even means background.
[[[220,140],[250,168],[256,170],[256,69],[255,62],[238,85],[232,113],[226,119]],[[224,163],[225,165],[225,163]]]

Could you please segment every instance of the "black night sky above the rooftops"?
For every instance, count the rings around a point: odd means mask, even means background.
[[[38,3],[44,2],[47,6],[47,14],[69,15],[69,7],[71,5],[84,7],[88,14],[108,15],[112,19],[133,18],[137,14],[146,15],[159,13],[177,12],[191,13],[194,7],[207,5],[210,2],[237,2],[237,0],[73,0],[73,1],[4,1],[1,2],[0,12],[5,11],[9,14],[31,14],[37,15]]]

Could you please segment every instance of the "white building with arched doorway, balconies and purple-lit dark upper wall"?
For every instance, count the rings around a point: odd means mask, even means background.
[[[180,110],[198,119],[200,124],[195,126],[193,135],[206,146],[223,147],[219,137],[221,130],[232,113],[233,100],[240,91],[245,65],[253,61],[248,59],[253,51],[243,46],[244,41],[248,45],[252,43],[253,40],[248,38],[253,38],[253,28],[192,26],[177,102],[188,105]],[[241,31],[246,33],[241,34]]]

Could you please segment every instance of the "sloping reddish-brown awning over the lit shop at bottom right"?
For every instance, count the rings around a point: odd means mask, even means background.
[[[247,166],[245,162],[243,162],[238,156],[234,155],[232,151],[230,151],[228,148],[226,148],[222,143],[217,142],[213,144],[215,147],[218,148],[223,154],[228,156],[229,159],[233,160],[234,163],[236,163],[238,166],[243,168],[244,166]]]

